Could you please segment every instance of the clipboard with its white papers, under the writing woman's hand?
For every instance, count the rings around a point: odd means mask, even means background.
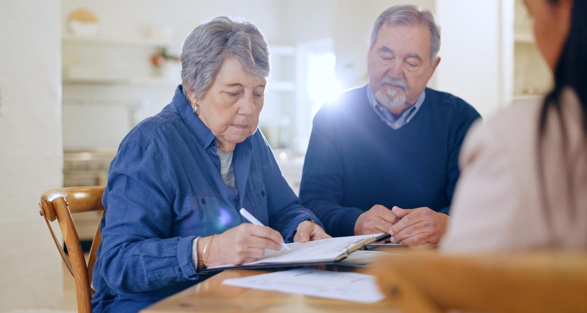
[[[307,243],[289,243],[289,251],[282,248],[275,251],[265,250],[265,257],[261,260],[248,262],[240,265],[224,264],[198,270],[205,273],[217,270],[237,268],[261,268],[279,267],[290,265],[311,265],[324,264],[340,261],[350,253],[359,250],[365,245],[382,241],[389,237],[389,234],[357,235],[349,237],[335,237],[321,240],[308,241]]]

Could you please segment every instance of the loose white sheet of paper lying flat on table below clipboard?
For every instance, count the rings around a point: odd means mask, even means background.
[[[384,298],[373,275],[331,272],[316,268],[296,268],[232,278],[224,280],[222,284],[366,303]]]

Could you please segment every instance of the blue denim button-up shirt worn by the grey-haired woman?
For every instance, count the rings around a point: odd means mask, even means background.
[[[259,130],[235,147],[236,188],[222,180],[216,145],[181,86],[124,137],[104,191],[94,312],[138,311],[207,278],[196,271],[192,242],[243,223],[241,207],[286,242],[302,221],[318,221],[299,204]]]

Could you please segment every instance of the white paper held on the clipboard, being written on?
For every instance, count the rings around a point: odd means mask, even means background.
[[[378,235],[381,234],[335,237],[308,241],[307,243],[289,243],[287,245],[291,249],[290,251],[285,250],[284,248],[278,251],[266,249],[265,257],[263,257],[261,260],[245,263],[242,265],[334,261],[350,244],[358,243],[359,241],[369,237],[377,237]],[[208,267],[208,269],[213,270],[214,268],[224,267],[227,267],[227,265]]]

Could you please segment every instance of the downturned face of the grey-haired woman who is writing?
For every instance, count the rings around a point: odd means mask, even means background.
[[[211,130],[218,147],[230,152],[257,130],[263,108],[265,79],[251,75],[235,56],[224,60],[212,84],[199,99],[189,92],[190,102],[198,106],[198,117]]]

